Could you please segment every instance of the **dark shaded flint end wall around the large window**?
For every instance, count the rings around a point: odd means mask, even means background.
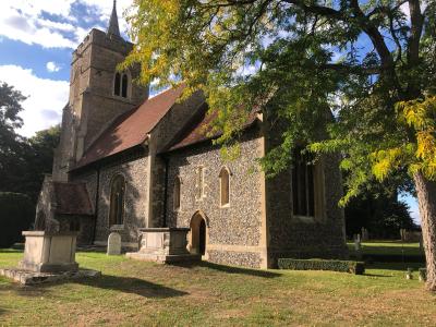
[[[267,150],[279,142],[280,126],[270,129],[266,137]],[[268,227],[268,257],[276,267],[280,257],[347,257],[339,157],[324,155],[318,161],[315,185],[315,217],[293,216],[291,169],[266,180],[266,210]],[[317,206],[318,205],[318,206]],[[316,207],[317,206],[317,207]]]

